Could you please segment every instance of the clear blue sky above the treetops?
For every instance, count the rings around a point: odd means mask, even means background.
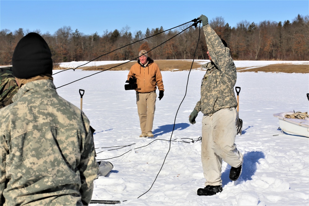
[[[29,32],[54,34],[63,26],[91,35],[104,31],[121,31],[129,26],[130,32],[163,26],[164,30],[191,21],[201,14],[210,20],[223,17],[225,23],[236,27],[241,21],[260,23],[270,20],[282,23],[292,21],[298,14],[309,14],[308,0],[54,0],[54,1],[0,1],[0,29],[11,32],[23,28]]]

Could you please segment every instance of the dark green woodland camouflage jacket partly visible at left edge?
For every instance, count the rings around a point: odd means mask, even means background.
[[[13,77],[12,67],[0,68],[0,109],[11,104],[18,86]]]

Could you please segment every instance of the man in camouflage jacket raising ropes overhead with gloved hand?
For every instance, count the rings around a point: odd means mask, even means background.
[[[241,173],[243,155],[235,145],[237,101],[234,93],[236,67],[230,49],[224,40],[208,24],[208,18],[201,15],[209,63],[202,65],[206,73],[201,83],[201,99],[189,116],[195,124],[199,111],[203,113],[201,160],[205,188],[197,190],[198,195],[214,195],[222,191],[222,160],[231,165],[230,179],[235,181]]]

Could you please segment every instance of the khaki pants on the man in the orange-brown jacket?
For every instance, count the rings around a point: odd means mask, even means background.
[[[152,132],[157,94],[136,92],[136,104],[142,133]]]

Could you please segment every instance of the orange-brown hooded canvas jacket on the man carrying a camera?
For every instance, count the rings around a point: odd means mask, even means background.
[[[155,91],[157,87],[159,90],[164,91],[162,75],[158,65],[150,57],[148,57],[147,60],[148,64],[145,67],[139,60],[131,67],[128,80],[132,76],[137,78],[137,88],[135,89],[137,92],[152,92]]]

